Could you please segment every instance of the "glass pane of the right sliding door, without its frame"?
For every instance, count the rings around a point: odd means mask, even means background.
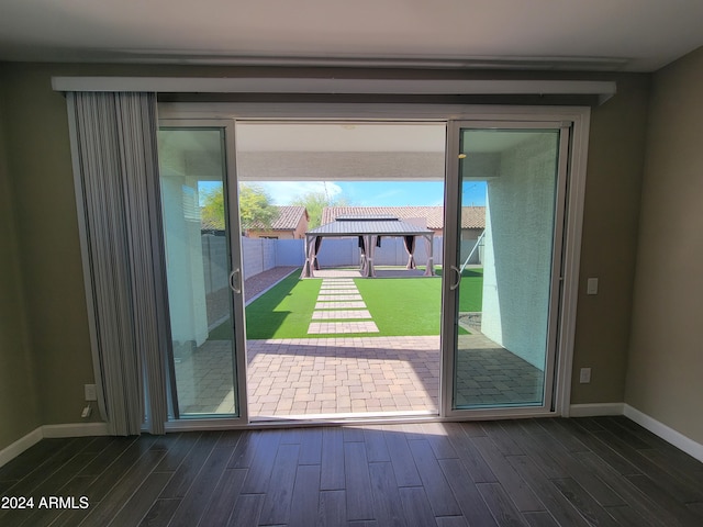
[[[558,130],[461,131],[455,408],[544,404],[558,145]]]

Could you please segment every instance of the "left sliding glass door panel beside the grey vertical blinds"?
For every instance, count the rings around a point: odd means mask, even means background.
[[[233,127],[165,121],[158,134],[171,415],[246,418]]]

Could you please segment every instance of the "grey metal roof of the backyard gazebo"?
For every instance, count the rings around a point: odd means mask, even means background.
[[[376,234],[380,236],[415,236],[434,234],[433,231],[412,223],[402,222],[398,217],[379,215],[344,215],[317,228],[308,231],[312,236],[362,236]]]

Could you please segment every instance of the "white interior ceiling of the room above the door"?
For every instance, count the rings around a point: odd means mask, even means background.
[[[0,60],[655,71],[700,0],[1,0]]]

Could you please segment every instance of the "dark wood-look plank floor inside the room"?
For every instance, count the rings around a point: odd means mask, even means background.
[[[703,525],[703,463],[625,417],[45,439],[0,494],[34,500],[3,527]]]

